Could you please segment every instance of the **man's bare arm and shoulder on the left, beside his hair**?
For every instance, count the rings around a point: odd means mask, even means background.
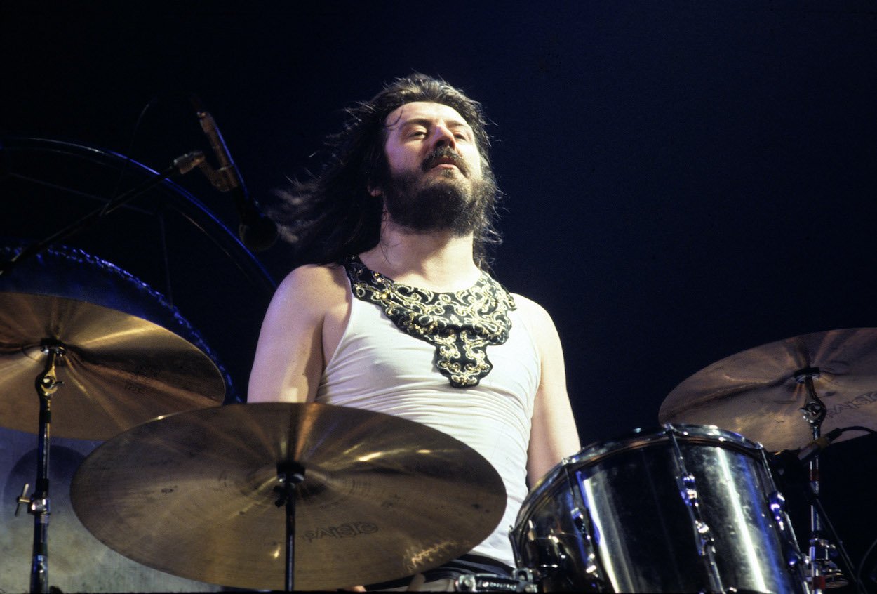
[[[317,266],[296,268],[283,280],[262,322],[247,402],[313,401],[324,349],[337,346],[346,323],[342,282],[339,270]]]

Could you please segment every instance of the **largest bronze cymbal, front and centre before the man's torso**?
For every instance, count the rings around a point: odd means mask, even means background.
[[[176,576],[282,590],[285,511],[296,487],[296,589],[410,576],[467,553],[503,516],[496,470],[406,419],[329,404],[227,404],[134,427],[82,463],[79,518],[122,555]]]

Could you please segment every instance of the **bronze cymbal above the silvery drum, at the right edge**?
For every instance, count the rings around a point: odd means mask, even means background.
[[[806,368],[820,372],[813,385],[827,409],[822,434],[877,429],[877,328],[803,334],[732,354],[676,386],[661,404],[660,422],[717,425],[768,451],[803,447],[812,440],[801,411],[809,397],[795,372]]]

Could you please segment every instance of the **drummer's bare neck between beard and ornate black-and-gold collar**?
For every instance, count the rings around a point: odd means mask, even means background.
[[[415,233],[384,221],[381,241],[360,254],[360,260],[397,283],[441,292],[464,290],[481,276],[472,246],[472,233]]]

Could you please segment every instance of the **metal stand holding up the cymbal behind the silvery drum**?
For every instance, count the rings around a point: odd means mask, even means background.
[[[808,367],[795,372],[795,381],[804,384],[807,389],[809,401],[802,407],[804,419],[810,425],[813,440],[822,437],[822,424],[828,410],[822,400],[816,396],[813,380],[819,379],[820,372],[817,367]],[[826,588],[838,588],[846,585],[846,579],[838,569],[838,565],[830,559],[831,551],[835,546],[824,537],[822,505],[819,504],[819,456],[814,455],[809,461],[809,486],[813,498],[810,502],[810,589],[813,594],[822,594]]]

